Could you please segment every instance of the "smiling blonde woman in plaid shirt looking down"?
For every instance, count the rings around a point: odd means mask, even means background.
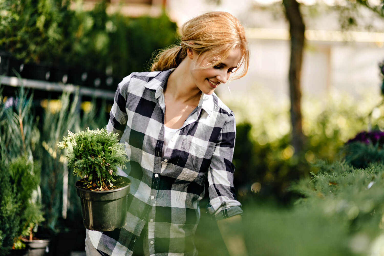
[[[229,13],[210,12],[180,34],[180,45],[162,51],[152,72],[132,73],[118,86],[107,128],[130,160],[122,173],[131,179],[127,221],[114,231],[87,230],[88,256],[196,255],[205,177],[207,211],[221,223],[229,251],[245,254],[241,236],[225,230],[242,214],[233,188],[235,117],[214,94],[239,68],[237,77],[247,73],[244,28]]]

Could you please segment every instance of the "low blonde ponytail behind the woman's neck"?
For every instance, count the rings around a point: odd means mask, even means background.
[[[161,50],[152,63],[151,71],[164,71],[176,68],[185,58],[187,51],[181,46],[173,45],[171,48]]]

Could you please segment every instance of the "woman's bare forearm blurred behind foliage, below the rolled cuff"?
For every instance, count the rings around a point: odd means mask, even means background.
[[[231,256],[247,256],[241,215],[217,221],[218,229]]]

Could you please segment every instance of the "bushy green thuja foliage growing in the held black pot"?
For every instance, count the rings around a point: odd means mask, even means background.
[[[58,147],[67,149],[68,167],[73,168],[73,175],[82,178],[83,188],[88,190],[113,189],[117,168],[122,168],[128,161],[118,134],[105,128],[88,128],[75,134],[68,131]]]

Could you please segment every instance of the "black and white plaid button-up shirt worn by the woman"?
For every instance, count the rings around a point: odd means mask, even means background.
[[[107,129],[119,133],[130,160],[124,175],[131,179],[127,224],[108,232],[87,230],[93,246],[111,256],[132,255],[146,223],[150,255],[197,255],[193,236],[206,176],[209,213],[216,220],[242,213],[233,188],[235,117],[215,94],[202,94],[162,155],[163,90],[171,72],[132,73],[115,94]]]

